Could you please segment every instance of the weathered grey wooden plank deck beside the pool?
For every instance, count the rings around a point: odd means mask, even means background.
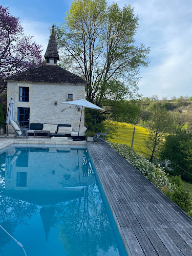
[[[87,145],[127,254],[192,255],[192,219],[108,144]]]

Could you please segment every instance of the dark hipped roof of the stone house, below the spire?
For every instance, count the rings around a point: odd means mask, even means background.
[[[42,65],[25,72],[9,76],[7,81],[51,82],[51,83],[86,83],[81,77],[62,69],[57,65]]]

